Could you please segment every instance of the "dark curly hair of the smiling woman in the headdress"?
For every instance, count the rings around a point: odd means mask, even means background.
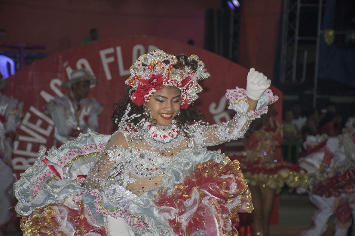
[[[193,70],[197,69],[197,61],[188,60],[188,57],[185,55],[177,56],[178,62],[174,64],[175,69],[182,69],[185,66],[190,66]],[[111,116],[111,121],[114,124],[118,124],[121,121],[123,114],[126,111],[127,105],[130,104],[131,110],[129,116],[132,114],[144,114],[143,106],[138,107],[135,103],[132,102],[130,95],[134,90],[130,90],[130,87],[127,88],[126,94],[122,97],[119,103],[114,103],[113,113]],[[197,110],[193,104],[190,104],[187,109],[180,109],[180,115],[176,116],[176,125],[181,129],[186,125],[193,124],[199,120],[204,119],[204,115],[201,111]],[[136,117],[131,120],[131,123],[137,124],[143,117]],[[148,117],[146,117],[148,118]]]

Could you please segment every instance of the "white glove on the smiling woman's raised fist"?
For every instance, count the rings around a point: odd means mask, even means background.
[[[253,100],[259,100],[261,95],[271,85],[271,80],[254,68],[250,68],[246,77],[246,94]]]

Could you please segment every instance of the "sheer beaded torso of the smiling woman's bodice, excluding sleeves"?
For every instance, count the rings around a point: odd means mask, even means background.
[[[125,135],[127,148],[114,145],[106,149],[105,154],[107,153],[110,160],[120,163],[109,173],[111,177],[105,183],[107,187],[119,182],[127,190],[139,196],[161,183],[165,169],[170,167],[176,155],[186,149],[193,150],[183,134],[164,145],[158,145],[154,140],[143,136],[141,141],[136,143],[134,138],[130,140],[130,136]]]

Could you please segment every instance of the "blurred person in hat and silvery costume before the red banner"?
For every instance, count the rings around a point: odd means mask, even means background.
[[[87,129],[97,130],[97,116],[103,107],[95,98],[87,98],[90,86],[95,84],[97,80],[89,71],[75,70],[62,85],[70,89],[70,94],[56,97],[43,107],[54,122],[54,145],[73,140]]]

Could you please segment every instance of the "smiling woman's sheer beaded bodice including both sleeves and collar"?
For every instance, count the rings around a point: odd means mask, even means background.
[[[159,130],[150,132],[152,130],[145,127],[146,124],[120,127],[102,150],[101,158],[87,176],[85,187],[105,191],[119,183],[140,196],[144,191],[161,184],[165,170],[174,159],[184,158],[196,148],[238,139],[249,128],[249,122],[245,116],[237,113],[228,122],[215,125],[197,122],[179,132],[175,128],[161,127],[162,130],[174,129],[174,135],[166,133],[168,139]],[[162,139],[156,138],[154,132]]]

